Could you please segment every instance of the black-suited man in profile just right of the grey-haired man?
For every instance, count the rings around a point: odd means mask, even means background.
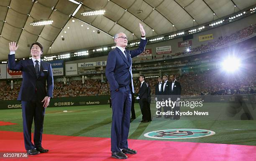
[[[143,123],[147,123],[151,120],[151,118],[149,118],[149,114],[148,114],[148,85],[145,82],[145,76],[144,75],[140,75],[140,82],[141,82],[141,87],[140,90],[138,92],[138,97],[136,98],[137,100],[139,100],[139,104],[141,107],[141,114],[142,114],[142,120],[141,122]]]

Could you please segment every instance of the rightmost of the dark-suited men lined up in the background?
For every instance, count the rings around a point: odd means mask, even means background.
[[[180,115],[175,115],[176,111],[179,111],[180,110],[180,107],[179,107],[179,100],[180,100],[180,95],[181,95],[181,90],[182,90],[182,87],[181,87],[181,84],[180,82],[178,82],[176,80],[176,77],[174,74],[171,74],[170,75],[170,80],[171,80],[171,100],[172,101],[177,101],[177,104],[175,104],[174,108],[173,108],[173,112],[174,112],[174,117],[171,118],[172,120],[179,120],[180,118]]]

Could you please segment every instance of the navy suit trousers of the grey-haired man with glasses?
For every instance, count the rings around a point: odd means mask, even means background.
[[[120,87],[116,92],[111,91],[112,126],[111,151],[121,151],[128,148],[128,133],[131,120],[131,90],[129,85]]]

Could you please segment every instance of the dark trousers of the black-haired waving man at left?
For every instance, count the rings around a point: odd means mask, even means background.
[[[26,150],[41,146],[45,108],[36,96],[31,101],[21,101],[23,118],[23,136]],[[31,127],[34,120],[34,144],[31,142]]]

